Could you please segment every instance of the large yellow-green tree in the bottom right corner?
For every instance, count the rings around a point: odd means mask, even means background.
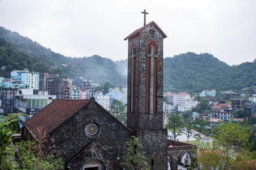
[[[212,145],[200,150],[198,163],[202,169],[250,169],[253,158],[246,143],[251,133],[239,123],[217,125]]]

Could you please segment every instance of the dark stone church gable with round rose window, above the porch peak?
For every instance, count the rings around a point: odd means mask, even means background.
[[[109,155],[122,157],[126,150],[125,142],[131,136],[131,130],[95,101],[86,104],[49,134],[55,141],[54,154],[65,162],[86,150],[92,142],[104,148]]]

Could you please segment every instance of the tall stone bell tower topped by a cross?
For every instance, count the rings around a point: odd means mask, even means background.
[[[163,129],[166,37],[152,21],[124,39],[128,39],[127,127],[140,138],[151,169],[167,169],[167,130]]]

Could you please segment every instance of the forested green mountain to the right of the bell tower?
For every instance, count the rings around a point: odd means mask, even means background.
[[[241,90],[256,83],[256,63],[228,66],[209,53],[181,53],[164,59],[164,91]]]

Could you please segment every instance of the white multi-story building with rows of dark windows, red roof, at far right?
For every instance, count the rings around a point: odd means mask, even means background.
[[[227,108],[227,106],[225,107],[226,108],[222,108],[219,105],[211,108],[211,111],[208,112],[208,118],[220,118],[221,120],[231,120],[231,118],[234,117],[234,112],[232,112],[231,106],[230,108]]]

